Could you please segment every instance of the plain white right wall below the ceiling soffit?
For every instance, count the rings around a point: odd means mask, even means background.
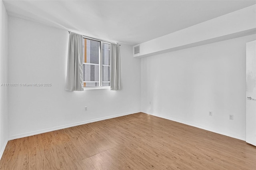
[[[245,140],[246,42],[255,39],[244,36],[142,58],[142,112]]]

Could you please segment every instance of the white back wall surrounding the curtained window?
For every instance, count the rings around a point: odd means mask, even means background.
[[[14,17],[9,17],[8,29],[9,82],[52,83],[9,87],[10,139],[140,112],[140,59],[132,57],[132,46],[120,47],[122,90],[68,92],[68,32]]]

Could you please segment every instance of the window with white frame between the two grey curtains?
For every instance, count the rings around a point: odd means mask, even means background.
[[[84,38],[83,44],[84,87],[110,86],[110,43]]]

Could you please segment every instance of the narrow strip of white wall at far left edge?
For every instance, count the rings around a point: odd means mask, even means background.
[[[7,12],[2,0],[0,0],[0,84],[7,83],[7,22]],[[0,159],[7,141],[7,87],[0,86]]]

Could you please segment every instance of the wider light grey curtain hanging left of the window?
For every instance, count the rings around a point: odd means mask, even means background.
[[[83,91],[83,36],[70,32],[65,90]]]

